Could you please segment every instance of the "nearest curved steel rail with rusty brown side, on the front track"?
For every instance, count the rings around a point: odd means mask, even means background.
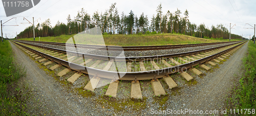
[[[12,42],[14,42],[14,41],[12,41]],[[245,42],[243,42],[243,43],[245,43]],[[16,42],[14,42],[14,43],[16,43]],[[74,71],[77,71],[77,72],[84,73],[84,74],[88,74],[88,72],[90,72],[90,75],[101,77],[101,78],[108,78],[108,79],[113,79],[115,77],[115,75],[118,74],[118,75],[123,76],[121,78],[119,77],[119,80],[134,80],[135,77],[137,77],[136,78],[137,80],[148,80],[148,79],[153,79],[155,77],[156,78],[162,78],[165,75],[181,72],[181,71],[183,71],[183,69],[188,69],[188,68],[193,67],[195,65],[198,65],[198,64],[201,64],[203,62],[209,61],[212,58],[216,58],[216,57],[218,57],[222,54],[225,54],[226,52],[229,52],[230,50],[232,50],[236,47],[239,47],[239,45],[242,45],[243,43],[240,43],[240,44],[238,44],[234,47],[231,47],[227,50],[216,53],[214,55],[207,56],[207,57],[202,58],[202,59],[198,59],[198,60],[195,60],[195,61],[191,61],[191,62],[188,62],[188,63],[185,63],[185,64],[173,66],[173,67],[167,67],[167,68],[156,69],[156,70],[153,70],[153,71],[145,71],[145,72],[110,72],[110,71],[103,71],[103,70],[100,70],[100,69],[95,69],[95,68],[91,68],[91,67],[87,67],[87,66],[78,65],[78,64],[66,61],[66,60],[56,58],[56,57],[47,55],[45,53],[33,50],[33,49],[31,49],[29,47],[26,47],[25,45],[22,45],[22,44],[19,44],[19,43],[16,43],[16,44],[20,45],[21,47],[23,47],[27,50],[30,50],[31,52],[34,52],[35,54],[38,54],[42,57],[45,57],[49,60],[52,60],[52,61],[56,62],[56,63],[60,63],[61,65],[64,65],[64,66],[67,66],[67,67],[72,66],[73,68],[71,68],[71,69],[73,69]],[[205,50],[203,50],[203,51],[205,51]]]

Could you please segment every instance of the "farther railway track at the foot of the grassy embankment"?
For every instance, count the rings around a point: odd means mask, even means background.
[[[18,41],[26,41],[26,42],[35,42],[35,43],[45,43],[45,44],[53,44],[53,45],[61,45],[61,46],[70,46],[73,47],[72,43],[60,43],[60,42],[46,42],[46,41],[28,41],[28,40],[18,40]],[[214,43],[198,43],[198,44],[180,44],[180,45],[154,45],[154,46],[130,46],[130,47],[117,47],[117,46],[103,46],[103,45],[89,45],[89,44],[75,44],[77,47],[84,49],[98,49],[98,50],[111,50],[111,51],[146,51],[146,50],[163,50],[163,49],[177,49],[177,48],[185,48],[185,47],[198,47],[203,45],[214,45],[214,44],[222,44],[222,43],[232,43],[236,41],[228,41],[228,42],[214,42]]]

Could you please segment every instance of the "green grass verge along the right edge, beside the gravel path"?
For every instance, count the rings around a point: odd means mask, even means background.
[[[232,94],[227,99],[229,109],[254,109],[256,108],[256,44],[252,41],[248,43],[248,54],[243,58],[245,73],[239,81],[239,86],[235,87]],[[245,110],[243,110],[244,112]],[[232,111],[233,112],[233,111]],[[245,115],[254,115],[248,114]],[[239,114],[241,115],[241,114]],[[244,114],[243,114],[244,115]]]

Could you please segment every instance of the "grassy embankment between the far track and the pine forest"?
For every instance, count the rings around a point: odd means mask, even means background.
[[[57,37],[40,37],[40,41],[66,42],[74,35],[61,35]],[[204,39],[181,34],[154,34],[154,35],[103,35],[106,45],[117,46],[144,46],[144,45],[170,45],[170,44],[194,44],[229,41],[227,39]],[[19,40],[33,40],[22,38]],[[38,37],[35,38],[38,41]],[[234,40],[232,40],[234,41]],[[89,43],[81,43],[89,44]]]

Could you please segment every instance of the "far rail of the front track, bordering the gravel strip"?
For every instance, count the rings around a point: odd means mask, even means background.
[[[239,42],[243,42],[243,41],[238,41],[238,43]],[[24,43],[24,42],[21,42],[21,43]],[[182,56],[197,54],[197,53],[201,53],[201,52],[207,52],[207,51],[210,51],[210,50],[223,48],[223,47],[226,47],[226,46],[229,46],[229,45],[232,45],[232,44],[236,44],[236,43],[231,43],[231,44],[228,44],[228,45],[222,45],[220,47],[215,47],[215,48],[184,52],[184,53],[158,55],[158,56],[141,56],[141,57],[102,56],[102,55],[94,55],[94,54],[86,54],[86,53],[78,53],[78,52],[73,52],[73,51],[60,50],[60,49],[55,49],[55,48],[50,48],[50,47],[44,47],[44,46],[41,46],[41,45],[34,45],[34,44],[30,44],[30,43],[25,43],[25,44],[29,44],[29,45],[32,45],[32,46],[35,46],[35,47],[39,47],[39,48],[43,48],[43,49],[47,49],[47,50],[52,50],[52,51],[56,51],[56,52],[60,52],[60,53],[65,53],[65,54],[67,54],[67,52],[68,52],[70,55],[77,55],[77,56],[93,58],[93,59],[101,59],[101,60],[108,60],[108,61],[114,59],[115,61],[124,61],[124,58],[125,58],[125,61],[148,61],[148,60],[157,60],[157,59],[161,59],[161,58],[182,57]]]

